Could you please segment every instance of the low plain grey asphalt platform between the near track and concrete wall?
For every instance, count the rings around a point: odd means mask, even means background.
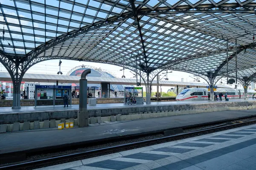
[[[219,111],[151,119],[137,119],[117,123],[101,123],[84,128],[64,130],[30,130],[0,134],[0,153],[50,147],[76,142],[88,142],[116,136],[134,135],[156,130],[198,125],[244,116],[256,116],[256,109]]]

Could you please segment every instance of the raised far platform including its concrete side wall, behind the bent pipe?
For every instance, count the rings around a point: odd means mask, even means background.
[[[87,106],[89,117],[116,116],[118,114],[128,115],[130,113],[148,113],[162,111],[180,111],[190,109],[206,108],[226,108],[237,106],[256,105],[253,99],[232,99],[230,101],[175,101],[175,102],[151,102],[151,104],[125,105],[123,103],[97,104]],[[50,119],[70,119],[77,118],[79,105],[63,108],[58,106],[24,106],[21,109],[3,107],[0,110],[0,124],[10,124],[14,122],[33,122]]]

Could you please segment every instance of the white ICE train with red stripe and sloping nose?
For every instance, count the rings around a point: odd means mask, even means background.
[[[187,88],[184,89],[180,94],[177,95],[176,100],[208,100],[208,88]],[[223,98],[224,94],[227,93],[229,99],[240,99],[244,98],[244,90],[236,88],[217,88],[214,91],[214,94],[222,93]],[[247,90],[247,96],[250,98],[256,94],[256,91]]]

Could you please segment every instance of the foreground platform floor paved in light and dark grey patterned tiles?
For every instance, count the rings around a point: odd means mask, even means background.
[[[37,170],[255,170],[256,125]]]

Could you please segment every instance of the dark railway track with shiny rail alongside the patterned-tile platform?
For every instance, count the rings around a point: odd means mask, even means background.
[[[213,133],[213,132],[228,130],[228,129],[232,129],[232,128],[236,128],[236,127],[256,124],[256,118],[255,117],[253,117],[253,118],[254,118],[253,120],[249,120],[247,122],[234,123],[231,125],[222,123],[222,124],[214,125],[211,127],[204,127],[204,128],[201,128],[200,130],[194,130],[194,131],[187,132],[187,133],[180,133],[180,134],[160,137],[160,138],[156,138],[156,139],[149,139],[149,140],[143,140],[143,141],[139,141],[139,142],[131,142],[131,143],[125,143],[125,144],[119,144],[119,145],[112,145],[112,146],[108,146],[108,147],[97,147],[97,148],[93,148],[93,149],[84,149],[84,150],[79,150],[79,151],[73,151],[73,152],[66,153],[66,154],[47,156],[47,157],[43,157],[40,159],[31,159],[31,160],[27,160],[27,161],[20,161],[20,162],[15,162],[15,163],[11,163],[11,164],[0,165],[0,170],[21,170],[21,169],[30,170],[30,169],[35,169],[35,168],[39,168],[39,167],[50,166],[53,164],[61,164],[61,163],[66,163],[66,162],[70,162],[70,161],[80,160],[83,158],[102,156],[102,155],[115,153],[115,152],[119,152],[119,151],[123,151],[123,150],[130,150],[130,149],[134,149],[134,148],[145,147],[148,145],[159,144],[159,143],[164,143],[164,142],[169,142],[169,141],[175,141],[175,140],[190,138],[193,136],[200,136],[200,135],[204,135],[207,133]],[[236,120],[233,120],[233,121],[236,121]]]

